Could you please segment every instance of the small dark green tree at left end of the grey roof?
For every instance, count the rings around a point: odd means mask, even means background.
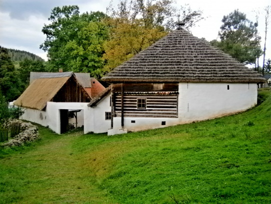
[[[24,84],[24,87],[27,87],[29,84],[30,72],[46,72],[46,69],[44,62],[25,58],[23,61],[19,62],[18,72],[21,82]]]

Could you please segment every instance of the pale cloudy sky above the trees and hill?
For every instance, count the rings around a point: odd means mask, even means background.
[[[113,0],[112,4],[118,4]],[[24,50],[36,54],[47,60],[46,53],[39,49],[46,38],[41,32],[44,24],[54,7],[77,5],[80,13],[100,11],[106,13],[110,0],[0,0],[0,46],[5,48]],[[245,13],[247,19],[255,21],[253,10],[260,11],[259,34],[264,39],[264,13],[263,8],[271,5],[270,0],[175,0],[175,6],[189,4],[192,10],[201,10],[205,20],[200,21],[191,29],[194,36],[205,38],[207,41],[217,39],[217,34],[223,16],[235,9]],[[263,40],[261,42],[263,48]],[[271,58],[271,22],[267,33],[266,57]],[[262,63],[262,59],[261,59]]]

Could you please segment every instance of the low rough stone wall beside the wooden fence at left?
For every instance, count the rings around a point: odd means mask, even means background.
[[[11,121],[12,122],[12,121]],[[1,144],[2,147],[12,147],[12,146],[22,146],[25,142],[31,142],[39,138],[38,128],[29,122],[22,122],[16,120],[20,123],[21,132],[14,136],[13,139],[8,140],[8,142]]]

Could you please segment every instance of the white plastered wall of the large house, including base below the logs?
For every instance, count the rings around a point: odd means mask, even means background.
[[[257,103],[256,84],[179,83],[178,92],[178,118],[124,117],[123,129],[138,131],[206,120],[244,111]],[[120,117],[113,118],[113,129],[122,129]]]

